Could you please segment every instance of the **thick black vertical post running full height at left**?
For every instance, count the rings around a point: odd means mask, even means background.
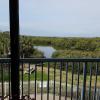
[[[19,100],[19,0],[9,0],[12,100]]]

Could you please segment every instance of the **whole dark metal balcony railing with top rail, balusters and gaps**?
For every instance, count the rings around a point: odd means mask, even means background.
[[[0,100],[11,100],[11,59],[0,59]],[[20,99],[100,100],[100,59],[20,59]]]

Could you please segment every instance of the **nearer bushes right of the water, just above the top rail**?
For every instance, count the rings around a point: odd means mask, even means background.
[[[100,58],[100,51],[57,50],[53,58]]]

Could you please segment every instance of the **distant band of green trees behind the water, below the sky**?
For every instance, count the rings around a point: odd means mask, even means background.
[[[65,50],[100,50],[100,38],[57,38],[57,37],[25,37],[31,38],[34,45],[51,45]]]

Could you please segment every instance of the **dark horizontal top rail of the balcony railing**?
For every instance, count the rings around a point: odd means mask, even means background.
[[[10,58],[0,58],[0,63],[10,63],[10,61]],[[100,58],[20,58],[20,62],[100,62]]]

